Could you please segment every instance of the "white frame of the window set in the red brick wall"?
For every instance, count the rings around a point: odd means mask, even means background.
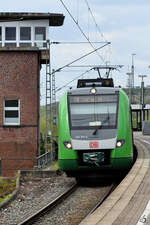
[[[18,107],[5,107],[5,101],[7,100],[18,100]],[[6,122],[5,120],[5,111],[18,111],[18,122],[13,123],[13,122]],[[3,102],[3,124],[4,126],[19,126],[20,125],[20,99],[10,99],[10,98],[6,98],[4,99]]]

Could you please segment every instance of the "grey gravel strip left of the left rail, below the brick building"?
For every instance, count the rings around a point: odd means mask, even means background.
[[[0,225],[17,225],[69,189],[73,183],[75,179],[65,175],[50,178],[25,177],[16,198],[0,209]]]

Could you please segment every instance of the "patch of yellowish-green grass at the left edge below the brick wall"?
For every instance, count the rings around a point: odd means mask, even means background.
[[[16,187],[16,178],[3,179],[0,178],[0,203],[11,195]]]

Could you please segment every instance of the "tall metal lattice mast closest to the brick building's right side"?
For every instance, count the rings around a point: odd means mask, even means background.
[[[51,65],[50,65],[50,41],[47,41],[46,49],[46,138],[45,138],[45,147],[46,151],[49,150],[50,141],[52,136],[52,94],[51,94]]]

